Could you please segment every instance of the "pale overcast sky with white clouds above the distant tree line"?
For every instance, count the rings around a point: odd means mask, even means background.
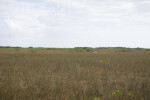
[[[150,48],[150,0],[0,0],[0,46]]]

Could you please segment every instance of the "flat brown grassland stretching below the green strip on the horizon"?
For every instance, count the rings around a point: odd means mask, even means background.
[[[150,100],[150,51],[0,51],[0,100]]]

